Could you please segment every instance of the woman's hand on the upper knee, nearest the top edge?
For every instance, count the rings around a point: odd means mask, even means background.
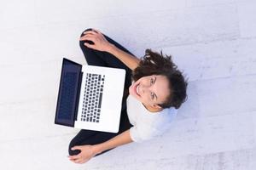
[[[80,41],[91,41],[94,44],[84,42],[84,46],[93,48],[98,51],[109,51],[111,43],[104,37],[102,32],[92,29],[92,31],[84,31],[84,36],[80,37]]]

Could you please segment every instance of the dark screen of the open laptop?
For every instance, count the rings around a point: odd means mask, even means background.
[[[63,59],[61,82],[55,113],[55,124],[73,127],[77,114],[79,97],[79,79],[82,65],[69,59]]]

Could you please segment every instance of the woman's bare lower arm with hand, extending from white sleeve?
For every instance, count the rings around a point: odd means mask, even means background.
[[[103,142],[102,144],[74,146],[72,150],[81,150],[81,152],[79,155],[68,157],[70,161],[75,163],[84,163],[89,161],[93,156],[96,156],[105,150],[110,150],[119,145],[129,144],[131,142],[132,139],[130,136],[130,130],[128,129],[125,132],[115,136],[113,139],[109,139],[108,141]]]

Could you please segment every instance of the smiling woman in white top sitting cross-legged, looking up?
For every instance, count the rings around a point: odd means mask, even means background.
[[[164,133],[187,98],[187,82],[171,56],[147,49],[137,59],[96,29],[82,33],[80,47],[88,65],[125,69],[125,90],[119,132],[81,130],[69,144],[70,161],[84,163],[119,145]]]

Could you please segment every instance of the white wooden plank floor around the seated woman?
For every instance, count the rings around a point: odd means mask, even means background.
[[[67,159],[77,129],[54,124],[61,59],[85,64],[94,27],[138,57],[172,54],[188,101],[162,138],[83,165]],[[0,168],[256,169],[256,2],[253,0],[0,1]]]

